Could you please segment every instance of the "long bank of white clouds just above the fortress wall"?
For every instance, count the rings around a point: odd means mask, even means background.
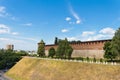
[[[92,40],[103,40],[112,39],[115,30],[112,28],[104,28],[98,31],[83,31],[81,35],[68,37],[68,40],[81,40],[81,41],[92,41]]]

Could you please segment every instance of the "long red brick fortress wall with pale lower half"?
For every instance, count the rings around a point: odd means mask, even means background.
[[[73,48],[72,57],[103,58],[104,55],[103,46],[104,43],[107,41],[111,41],[111,40],[84,41],[80,43],[70,44]],[[46,55],[48,55],[48,50],[51,47],[57,49],[57,45],[46,45],[45,46]]]

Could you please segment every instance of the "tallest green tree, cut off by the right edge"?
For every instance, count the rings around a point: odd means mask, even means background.
[[[120,59],[120,28],[115,32],[115,35],[111,41],[112,53],[116,55],[116,58]]]

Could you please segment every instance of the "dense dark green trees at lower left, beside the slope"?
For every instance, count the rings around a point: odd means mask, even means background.
[[[13,50],[0,50],[0,69],[9,69],[17,61],[21,59],[21,56],[16,54]]]

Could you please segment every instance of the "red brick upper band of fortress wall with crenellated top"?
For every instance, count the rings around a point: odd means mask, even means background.
[[[104,43],[107,41],[111,41],[111,39],[107,40],[95,40],[95,41],[83,41],[79,43],[71,43],[70,45],[74,50],[102,50]],[[45,50],[49,50],[51,47],[57,48],[58,45],[49,44],[45,45]]]

